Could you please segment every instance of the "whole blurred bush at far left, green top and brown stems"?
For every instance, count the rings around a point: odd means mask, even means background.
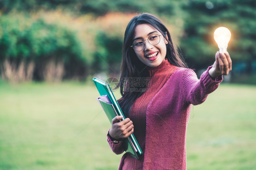
[[[67,28],[47,24],[24,13],[2,15],[0,23],[2,78],[27,81],[32,80],[35,73],[40,80],[60,81],[65,70],[72,76],[77,74],[74,70],[79,66],[85,70],[81,44],[76,34]]]

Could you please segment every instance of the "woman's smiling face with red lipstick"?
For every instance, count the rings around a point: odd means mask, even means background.
[[[155,29],[150,24],[140,24],[135,27],[133,40],[146,40],[152,34],[161,35],[161,33]],[[135,51],[138,59],[143,62],[144,64],[150,67],[157,67],[165,60],[166,57],[166,40],[163,37],[164,35],[160,36],[160,42],[157,45],[149,44],[146,40],[144,41],[145,46],[144,49],[141,51]],[[134,42],[133,41],[133,42]],[[150,40],[149,40],[150,41]],[[143,45],[143,44],[142,44]]]

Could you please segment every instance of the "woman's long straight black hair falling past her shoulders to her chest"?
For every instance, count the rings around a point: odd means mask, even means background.
[[[129,117],[130,109],[133,103],[140,97],[144,90],[144,86],[132,86],[127,80],[131,80],[133,77],[146,77],[148,71],[146,65],[142,63],[136,56],[134,49],[131,47],[132,38],[134,35],[135,27],[140,24],[150,24],[160,33],[162,33],[168,44],[166,44],[166,58],[167,60],[178,67],[187,68],[183,57],[178,53],[177,47],[171,40],[171,35],[166,26],[154,15],[149,13],[142,13],[133,17],[128,23],[125,33],[122,50],[122,61],[121,61],[121,76],[119,84],[116,88],[120,87],[120,93],[122,97],[118,100],[124,115]],[[168,39],[166,38],[168,37]],[[132,89],[132,90],[131,90]]]

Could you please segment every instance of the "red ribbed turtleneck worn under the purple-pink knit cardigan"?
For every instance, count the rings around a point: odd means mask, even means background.
[[[143,152],[139,155],[139,159],[134,159],[130,155],[124,159],[123,169],[143,169],[144,152],[145,152],[145,139],[146,139],[146,110],[149,102],[159,92],[159,90],[166,83],[171,73],[178,67],[172,65],[168,60],[164,60],[157,67],[147,67],[149,71],[148,77],[150,84],[146,86],[146,92],[143,93],[132,105],[129,118],[134,125],[134,136]]]

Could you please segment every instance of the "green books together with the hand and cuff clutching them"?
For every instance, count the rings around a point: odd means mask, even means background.
[[[125,151],[133,158],[138,159],[138,155],[141,155],[142,151],[132,134],[132,121],[129,118],[125,119],[109,84],[98,78],[93,78],[93,82],[101,95],[96,99],[111,123],[111,129],[107,133],[110,148],[115,154],[121,154]]]

